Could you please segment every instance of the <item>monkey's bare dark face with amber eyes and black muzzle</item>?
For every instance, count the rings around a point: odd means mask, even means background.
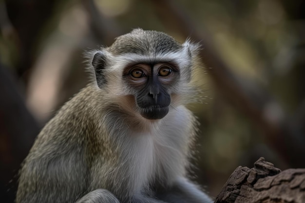
[[[170,90],[179,69],[174,64],[137,64],[124,70],[123,79],[134,89],[139,113],[146,119],[161,119],[169,112]]]

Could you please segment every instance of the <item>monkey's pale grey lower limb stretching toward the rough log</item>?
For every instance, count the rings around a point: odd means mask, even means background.
[[[178,179],[172,187],[157,198],[169,203],[213,203],[210,197],[186,178]]]

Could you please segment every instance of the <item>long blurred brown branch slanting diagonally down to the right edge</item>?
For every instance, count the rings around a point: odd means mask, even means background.
[[[297,111],[297,116],[293,119],[293,124],[300,125],[291,124],[271,92],[251,82],[249,78],[240,77],[231,71],[232,68],[225,63],[213,46],[209,33],[201,32],[199,35],[193,22],[179,4],[173,0],[152,0],[152,4],[167,27],[176,30],[184,37],[190,37],[192,33],[191,39],[198,41],[204,47],[200,57],[208,68],[217,91],[262,130],[267,144],[276,150],[289,166],[305,167],[305,162],[300,162],[305,160],[305,132],[304,120],[302,120],[305,117],[305,107],[301,105],[300,111]],[[272,106],[276,106],[284,116],[276,119],[266,116],[266,111]]]

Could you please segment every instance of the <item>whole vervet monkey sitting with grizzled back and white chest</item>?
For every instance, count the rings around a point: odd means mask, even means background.
[[[211,203],[187,179],[199,45],[135,29],[88,53],[92,82],[39,133],[17,203]]]

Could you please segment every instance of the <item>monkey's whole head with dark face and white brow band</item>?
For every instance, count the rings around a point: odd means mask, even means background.
[[[91,54],[96,84],[109,95],[132,96],[127,105],[142,117],[161,119],[194,93],[198,50],[189,40],[180,44],[165,33],[135,29]]]

